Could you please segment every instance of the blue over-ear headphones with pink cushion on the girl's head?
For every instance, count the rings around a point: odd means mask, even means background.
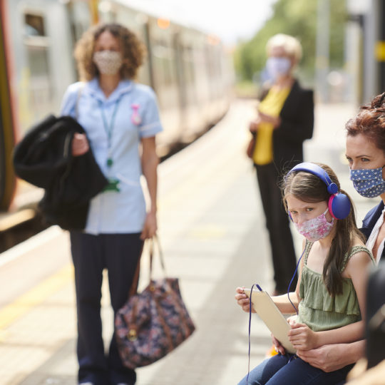
[[[287,175],[293,171],[305,171],[306,173],[316,175],[325,185],[327,185],[327,191],[330,194],[328,207],[332,217],[337,220],[342,220],[349,215],[351,209],[349,197],[338,192],[338,186],[332,182],[329,175],[322,167],[314,163],[304,162],[294,166]]]

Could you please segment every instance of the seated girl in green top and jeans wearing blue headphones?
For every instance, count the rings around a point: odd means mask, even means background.
[[[292,168],[284,178],[282,195],[289,217],[305,237],[295,292],[289,293],[288,288],[287,295],[272,297],[283,314],[297,312],[289,319],[290,342],[300,353],[362,339],[364,271],[374,261],[356,227],[350,198],[340,189],[333,170],[315,163]],[[237,288],[235,299],[249,312],[242,287]],[[352,367],[327,373],[277,346],[279,354],[263,361],[240,385],[338,384]]]

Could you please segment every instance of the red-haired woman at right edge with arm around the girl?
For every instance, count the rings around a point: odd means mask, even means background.
[[[304,361],[324,371],[353,364],[364,356],[369,359],[369,366],[385,359],[384,344],[381,344],[385,341],[384,332],[369,327],[374,314],[385,303],[385,285],[381,282],[385,277],[385,93],[376,96],[369,105],[362,106],[359,113],[347,122],[346,128],[346,157],[354,188],[363,197],[381,198],[378,205],[366,214],[360,229],[366,236],[366,247],[371,251],[379,270],[369,276],[366,340],[324,345],[300,355]],[[359,383],[364,384],[364,381]]]

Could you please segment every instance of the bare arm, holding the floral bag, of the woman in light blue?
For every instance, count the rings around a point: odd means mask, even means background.
[[[143,226],[140,239],[153,237],[158,228],[156,222],[156,194],[158,177],[156,168],[158,167],[159,159],[155,151],[155,136],[149,138],[142,138],[143,152],[141,157],[143,175],[148,186],[148,193],[150,195],[150,210],[145,218],[145,224]]]

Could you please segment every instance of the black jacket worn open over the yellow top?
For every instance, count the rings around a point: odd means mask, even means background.
[[[262,93],[265,98],[269,89]],[[314,127],[313,91],[294,81],[281,112],[281,125],[273,131],[273,161],[278,170],[289,170],[303,162],[302,143],[312,138]]]

